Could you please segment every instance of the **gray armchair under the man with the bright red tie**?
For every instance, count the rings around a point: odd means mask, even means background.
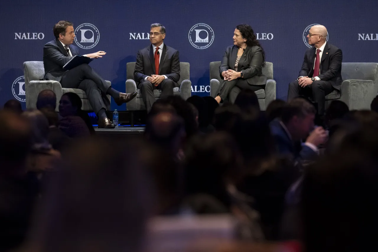
[[[189,63],[180,62],[180,80],[178,81],[180,87],[175,87],[173,89],[173,94],[180,95],[184,100],[192,95],[192,82],[190,81],[189,67]],[[136,88],[134,70],[135,62],[129,62],[126,64],[126,93],[138,92],[136,99],[127,103],[126,110],[146,110],[146,105],[144,105],[140,90]],[[153,94],[155,95],[155,98],[159,98],[161,90],[155,89],[153,90]]]

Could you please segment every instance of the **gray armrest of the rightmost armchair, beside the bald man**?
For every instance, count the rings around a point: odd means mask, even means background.
[[[375,81],[347,79],[341,84],[340,100],[353,109],[370,109],[370,103],[377,95]]]

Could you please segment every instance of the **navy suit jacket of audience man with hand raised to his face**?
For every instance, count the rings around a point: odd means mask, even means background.
[[[269,126],[279,154],[288,154],[297,161],[314,160],[318,157],[318,154],[310,147],[301,145],[301,142],[294,143],[278,119],[271,121]]]

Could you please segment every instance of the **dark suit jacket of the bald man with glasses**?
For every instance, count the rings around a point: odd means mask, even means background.
[[[313,77],[315,64],[316,48],[309,48],[305,53],[301,72],[299,76]],[[342,51],[334,45],[325,44],[322,58],[320,59],[320,75],[322,81],[329,81],[335,89],[340,90]]]

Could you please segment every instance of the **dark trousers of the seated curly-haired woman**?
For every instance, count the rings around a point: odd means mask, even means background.
[[[239,89],[250,89],[252,91],[257,91],[263,89],[263,85],[251,85],[246,79],[234,79],[232,81],[223,81],[222,87],[220,89],[219,96],[222,100],[226,100],[229,96],[229,101],[234,103],[236,97],[239,95],[240,90],[232,89],[233,87],[239,87]]]

